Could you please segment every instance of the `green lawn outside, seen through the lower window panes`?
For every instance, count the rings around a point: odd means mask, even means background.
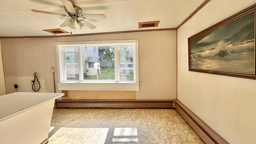
[[[99,80],[115,80],[115,68],[101,68]],[[79,78],[67,78],[67,80],[79,80]],[[84,80],[97,80],[97,76],[84,76]],[[133,72],[127,72],[125,76],[120,76],[121,81],[133,81]]]

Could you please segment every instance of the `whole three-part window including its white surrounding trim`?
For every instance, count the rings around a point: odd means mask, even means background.
[[[115,85],[128,82],[129,84],[136,83],[136,87],[139,86],[138,40],[56,42],[56,56],[58,81],[61,83],[58,86],[67,84],[66,82],[68,84],[78,84],[79,82],[86,86],[93,83]],[[100,88],[100,85],[97,84],[97,86]],[[128,87],[124,89],[129,89]],[[106,88],[106,86],[102,88]],[[89,87],[74,89],[85,90]],[[110,89],[121,90],[120,88]],[[138,90],[138,88],[135,89]],[[71,90],[70,87],[69,90]],[[130,90],[132,89],[130,88]]]

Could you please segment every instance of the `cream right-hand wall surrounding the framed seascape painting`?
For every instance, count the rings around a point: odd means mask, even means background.
[[[255,0],[211,0],[178,29],[178,100],[230,144],[255,144],[256,80],[188,71],[188,38]]]

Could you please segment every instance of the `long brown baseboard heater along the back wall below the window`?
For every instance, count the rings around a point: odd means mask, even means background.
[[[57,100],[56,108],[174,108],[174,100]]]

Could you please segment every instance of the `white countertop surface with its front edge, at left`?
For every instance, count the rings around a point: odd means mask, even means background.
[[[63,93],[14,92],[0,96],[0,122],[64,96]]]

